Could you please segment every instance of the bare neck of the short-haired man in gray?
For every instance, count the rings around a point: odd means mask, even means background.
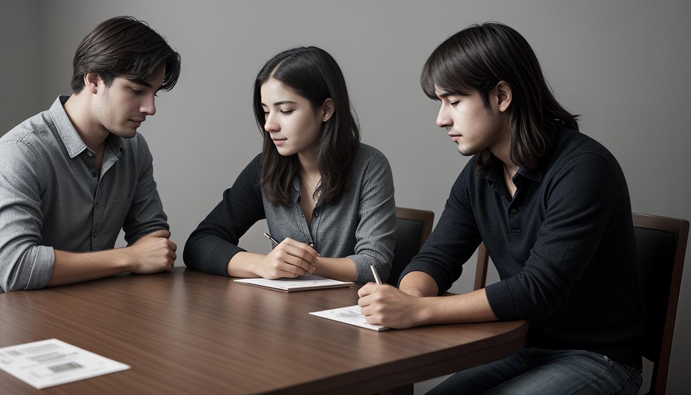
[[[91,102],[86,97],[86,93],[82,95],[73,93],[62,107],[86,147],[94,152],[102,151],[110,132],[91,116]]]

